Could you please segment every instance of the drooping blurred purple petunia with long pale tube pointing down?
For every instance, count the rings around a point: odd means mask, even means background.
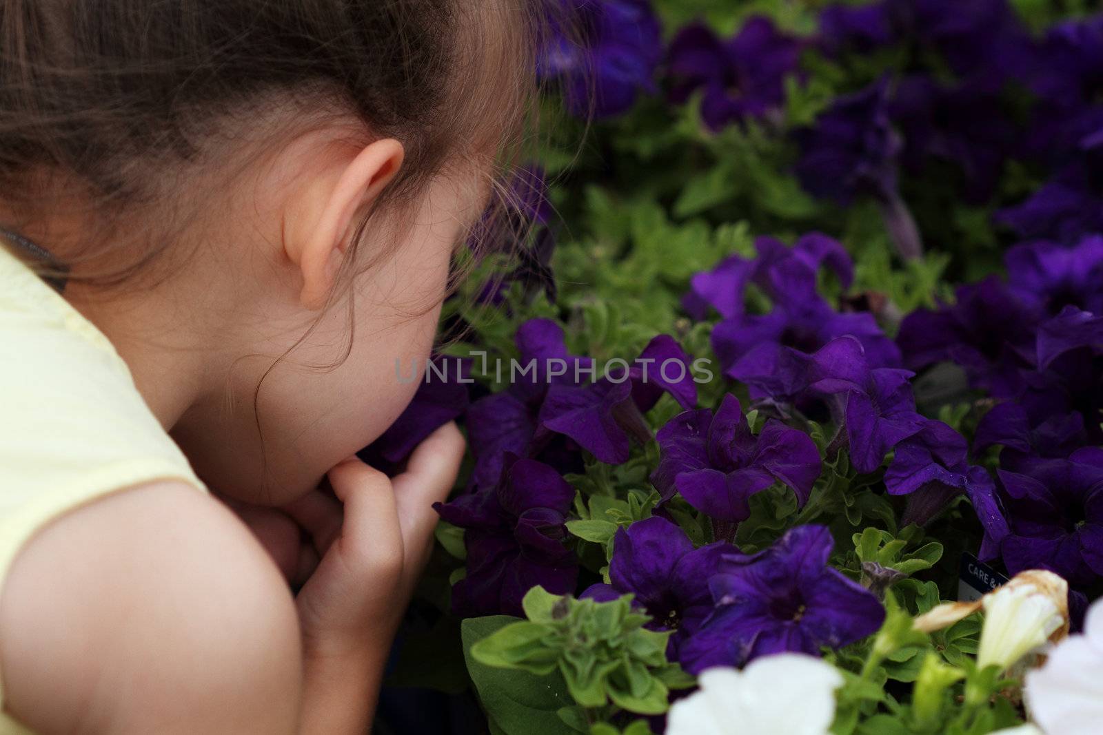
[[[816,117],[814,127],[797,130],[796,175],[807,192],[842,206],[857,196],[871,196],[901,257],[914,259],[923,246],[897,190],[901,142],[892,129],[888,100],[889,83],[882,77],[836,99]]]

